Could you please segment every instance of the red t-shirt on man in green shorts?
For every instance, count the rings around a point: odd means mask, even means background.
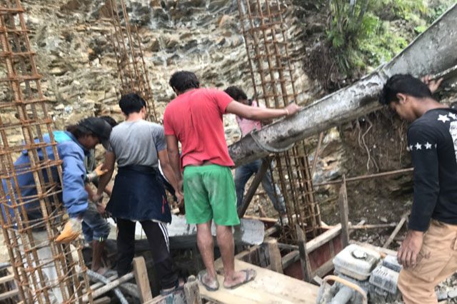
[[[222,115],[233,99],[216,89],[196,88],[180,94],[166,107],[166,135],[182,145],[182,166],[205,161],[233,166],[224,136]]]

